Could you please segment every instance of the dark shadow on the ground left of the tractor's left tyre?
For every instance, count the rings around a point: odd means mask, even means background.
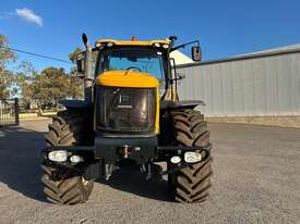
[[[15,126],[1,127],[0,132],[0,184],[45,201],[39,153],[45,146],[45,133]]]

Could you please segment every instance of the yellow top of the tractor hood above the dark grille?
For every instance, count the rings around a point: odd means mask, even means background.
[[[108,71],[96,78],[96,84],[101,86],[132,87],[132,88],[156,88],[157,78],[148,73],[134,70]]]

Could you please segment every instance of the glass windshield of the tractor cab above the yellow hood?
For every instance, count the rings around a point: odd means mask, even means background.
[[[107,49],[100,53],[98,73],[116,70],[136,70],[159,80],[165,78],[163,52],[144,48]]]

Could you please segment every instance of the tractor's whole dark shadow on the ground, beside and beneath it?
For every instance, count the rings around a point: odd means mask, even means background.
[[[45,147],[45,133],[31,126],[11,126],[1,127],[0,134],[0,185],[3,183],[28,198],[46,201],[40,183],[40,150]],[[155,165],[153,170],[151,179],[140,173],[139,166],[129,166],[115,171],[108,182],[97,182],[141,197],[170,201],[168,184],[158,175],[160,166]]]

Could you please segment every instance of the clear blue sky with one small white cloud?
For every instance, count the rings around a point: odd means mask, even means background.
[[[68,60],[82,46],[111,37],[200,39],[204,60],[300,42],[299,0],[10,0],[1,2],[0,33],[10,46]],[[70,65],[19,53],[37,70]]]

